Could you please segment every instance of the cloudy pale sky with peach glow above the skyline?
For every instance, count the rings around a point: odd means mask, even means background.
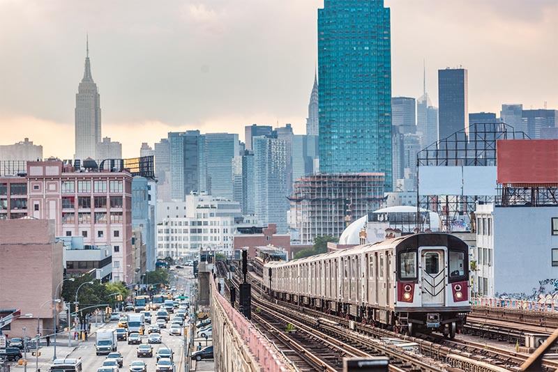
[[[557,0],[385,0],[392,95],[437,105],[437,70],[469,70],[469,112],[558,109]],[[89,33],[103,137],[135,157],[169,131],[292,123],[306,133],[324,0],[0,0],[0,144],[73,157]]]

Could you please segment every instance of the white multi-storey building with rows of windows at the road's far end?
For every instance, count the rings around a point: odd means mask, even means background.
[[[234,221],[241,217],[239,202],[190,194],[186,201],[164,204],[169,209],[167,214],[165,209],[163,215],[158,213],[158,257],[193,259],[202,248],[232,256]],[[176,213],[180,217],[174,217]]]

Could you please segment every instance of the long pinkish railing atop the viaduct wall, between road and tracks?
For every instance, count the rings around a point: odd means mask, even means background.
[[[248,350],[255,356],[263,371],[284,372],[291,371],[287,367],[287,362],[283,359],[279,350],[275,348],[266,337],[257,330],[252,323],[248,321],[239,311],[234,309],[232,305],[225,300],[225,297],[218,293],[215,281],[211,282],[211,292],[213,298],[218,302],[220,307],[225,311],[234,329],[239,332],[243,342],[248,346]]]

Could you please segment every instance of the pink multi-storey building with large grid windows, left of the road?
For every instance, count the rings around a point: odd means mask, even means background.
[[[133,282],[130,173],[75,171],[60,160],[27,162],[27,195],[27,214],[54,219],[56,236],[112,245],[112,279]]]

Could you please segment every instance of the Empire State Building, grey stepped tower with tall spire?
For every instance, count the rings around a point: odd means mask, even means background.
[[[100,142],[100,95],[91,76],[89,40],[86,45],[85,70],[75,95],[75,158],[97,159]]]

